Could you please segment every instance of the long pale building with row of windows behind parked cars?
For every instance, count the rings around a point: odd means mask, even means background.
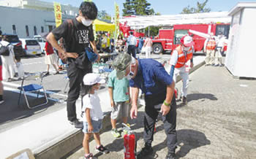
[[[62,20],[74,17],[62,14]],[[3,34],[18,34],[20,38],[33,37],[51,31],[56,26],[52,11],[0,6],[0,19],[0,30]]]

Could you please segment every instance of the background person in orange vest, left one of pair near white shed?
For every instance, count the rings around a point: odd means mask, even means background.
[[[211,33],[210,37],[206,39],[203,47],[203,51],[206,53],[205,66],[214,65],[215,49],[216,49],[216,40],[214,39],[214,34]]]

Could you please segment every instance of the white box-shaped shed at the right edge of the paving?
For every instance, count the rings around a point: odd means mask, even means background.
[[[232,22],[225,66],[233,76],[256,78],[256,2],[238,3],[229,15]]]

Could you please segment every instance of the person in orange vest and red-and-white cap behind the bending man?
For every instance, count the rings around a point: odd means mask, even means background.
[[[189,71],[186,63],[190,60],[190,67],[193,67],[194,42],[191,36],[186,35],[181,38],[181,44],[173,50],[170,58],[170,77],[176,82],[178,74],[181,76],[183,87],[181,89],[181,101],[187,104],[187,88],[189,86]]]

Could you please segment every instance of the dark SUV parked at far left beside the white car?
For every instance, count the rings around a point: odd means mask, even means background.
[[[13,50],[15,53],[15,56],[23,56],[23,48],[20,39],[18,38],[18,35],[15,34],[3,34],[7,36],[7,42],[10,42],[13,45]]]

